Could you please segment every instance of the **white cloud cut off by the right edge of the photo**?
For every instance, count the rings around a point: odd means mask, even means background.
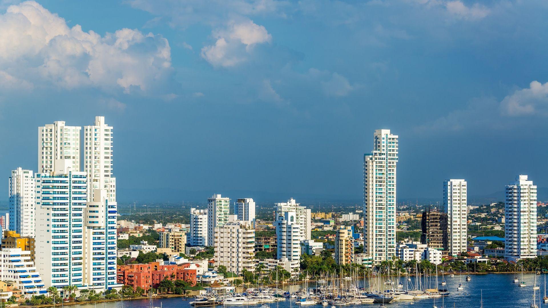
[[[501,101],[501,111],[506,116],[548,116],[548,82],[533,81],[528,89],[516,90]]]

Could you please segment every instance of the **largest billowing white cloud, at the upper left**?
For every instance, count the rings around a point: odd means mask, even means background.
[[[0,71],[36,87],[149,92],[171,73],[167,39],[123,28],[84,32],[35,1],[0,15]]]

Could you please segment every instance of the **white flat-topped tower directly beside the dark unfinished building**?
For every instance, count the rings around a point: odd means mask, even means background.
[[[443,207],[447,213],[447,243],[449,255],[466,251],[467,185],[463,179],[450,179],[443,182]]]

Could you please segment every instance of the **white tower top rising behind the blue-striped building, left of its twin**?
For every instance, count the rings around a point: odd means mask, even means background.
[[[72,170],[80,170],[81,129],[65,126],[65,121],[38,127],[38,173],[53,172],[58,159],[67,159]]]

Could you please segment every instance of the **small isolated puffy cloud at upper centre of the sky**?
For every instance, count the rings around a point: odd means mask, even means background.
[[[214,45],[202,48],[201,56],[213,66],[236,66],[248,59],[256,44],[270,43],[272,36],[264,26],[253,21],[230,22],[213,31]]]

